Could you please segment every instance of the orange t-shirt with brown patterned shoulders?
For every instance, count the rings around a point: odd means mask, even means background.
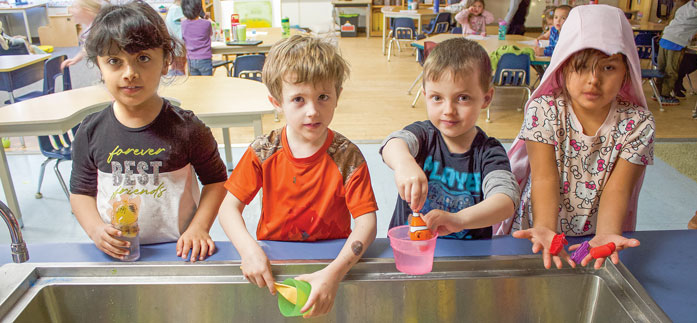
[[[252,142],[225,182],[249,204],[263,189],[257,239],[315,241],[346,238],[354,218],[377,208],[370,173],[358,147],[328,130],[312,156],[295,158],[285,128]]]

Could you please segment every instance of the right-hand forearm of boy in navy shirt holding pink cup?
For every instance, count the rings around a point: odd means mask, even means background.
[[[510,218],[514,212],[513,200],[503,193],[489,196],[484,201],[457,212],[464,229],[484,228]]]

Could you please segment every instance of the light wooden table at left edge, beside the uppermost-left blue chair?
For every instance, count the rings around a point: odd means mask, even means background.
[[[10,103],[15,102],[14,90],[44,78],[44,61],[49,57],[49,54],[0,56],[0,91],[10,93]]]

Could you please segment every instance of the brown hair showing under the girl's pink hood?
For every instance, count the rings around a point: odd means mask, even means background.
[[[557,73],[555,76],[557,84],[561,85],[561,94],[567,98],[569,97],[569,91],[566,89],[566,78],[571,75],[571,73],[585,73],[589,71],[595,73],[598,69],[598,62],[610,56],[611,55],[607,55],[594,48],[582,49],[569,56],[569,58],[562,63],[562,66],[559,67],[560,73]],[[624,75],[624,85],[630,81],[629,64],[627,64],[627,56],[624,56],[624,54],[622,54],[622,62],[627,71]]]

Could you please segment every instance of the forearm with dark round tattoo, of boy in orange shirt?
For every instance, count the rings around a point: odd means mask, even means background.
[[[353,232],[348,236],[339,255],[327,266],[327,269],[333,271],[339,279],[343,278],[375,240],[376,228],[375,212],[363,214],[356,218]]]

